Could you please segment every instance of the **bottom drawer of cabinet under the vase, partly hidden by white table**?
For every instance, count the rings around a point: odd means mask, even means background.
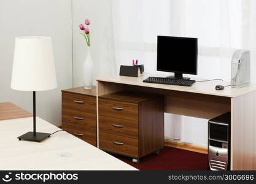
[[[76,129],[66,125],[63,125],[63,127],[61,128],[64,129],[64,131],[69,132],[69,134],[72,134],[73,136],[76,136],[79,139],[82,139],[85,142],[88,142],[89,144],[96,147],[97,145],[96,131],[85,131],[84,129],[82,130]]]

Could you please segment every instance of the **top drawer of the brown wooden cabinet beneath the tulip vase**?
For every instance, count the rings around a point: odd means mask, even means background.
[[[96,97],[63,92],[62,107],[96,114]]]

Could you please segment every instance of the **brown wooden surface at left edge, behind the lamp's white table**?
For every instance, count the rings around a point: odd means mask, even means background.
[[[0,103],[0,120],[32,117],[32,114],[10,102]]]

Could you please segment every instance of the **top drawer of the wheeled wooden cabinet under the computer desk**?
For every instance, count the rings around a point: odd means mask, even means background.
[[[99,98],[99,115],[138,121],[138,104]]]

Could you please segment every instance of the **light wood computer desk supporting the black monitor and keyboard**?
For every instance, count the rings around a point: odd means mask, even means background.
[[[165,112],[190,117],[211,119],[231,112],[231,169],[256,169],[256,85],[244,88],[226,87],[215,90],[215,85],[228,82],[196,82],[193,86],[144,83],[141,77],[115,75],[97,79],[97,96],[122,90],[147,91],[165,96]],[[160,75],[157,75],[160,76]],[[161,77],[161,76],[160,76]],[[97,98],[98,103],[98,98]]]

